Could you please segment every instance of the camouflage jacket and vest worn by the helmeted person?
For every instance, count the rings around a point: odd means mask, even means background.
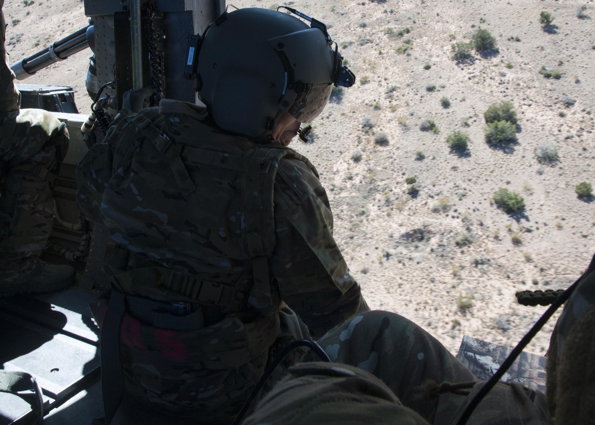
[[[124,319],[127,376],[146,398],[189,414],[258,380],[284,305],[314,337],[367,310],[309,161],[205,119],[204,108],[163,100],[111,127],[77,170],[80,210],[117,243],[107,258],[114,287],[225,312],[186,333]]]

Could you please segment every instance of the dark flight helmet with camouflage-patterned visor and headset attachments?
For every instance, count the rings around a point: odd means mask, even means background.
[[[327,27],[283,8],[289,12],[226,11],[202,36],[189,36],[184,73],[226,132],[267,139],[283,112],[308,123],[322,112],[333,86],[355,82]]]

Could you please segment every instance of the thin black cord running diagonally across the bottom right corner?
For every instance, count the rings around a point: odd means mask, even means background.
[[[586,276],[586,273],[583,274],[583,276]],[[536,321],[531,330],[527,332],[527,334],[524,337],[522,337],[521,341],[515,346],[515,348],[513,348],[511,354],[509,354],[508,357],[506,357],[506,360],[498,368],[496,373],[493,374],[493,376],[486,382],[486,384],[483,387],[481,387],[477,394],[475,394],[471,401],[469,401],[469,404],[465,407],[465,410],[459,417],[459,420],[456,422],[456,425],[465,425],[465,423],[467,422],[469,417],[471,417],[471,414],[473,413],[477,405],[480,404],[481,400],[483,400],[486,394],[492,388],[494,388],[494,386],[499,382],[502,376],[504,376],[506,371],[515,362],[516,358],[519,357],[519,354],[521,354],[521,352],[525,349],[528,343],[531,342],[531,339],[533,339],[533,337],[537,335],[537,332],[541,330],[544,324],[546,324],[550,317],[552,317],[556,310],[558,310],[560,305],[564,304],[564,302],[566,302],[566,300],[570,298],[572,292],[574,292],[575,288],[578,286],[578,283],[581,281],[581,279],[583,279],[583,276],[579,277],[577,281],[572,284],[572,286],[566,289],[562,293],[562,295],[560,295],[552,303],[552,305],[550,305],[550,308],[548,308],[546,312],[543,313],[539,320]]]

